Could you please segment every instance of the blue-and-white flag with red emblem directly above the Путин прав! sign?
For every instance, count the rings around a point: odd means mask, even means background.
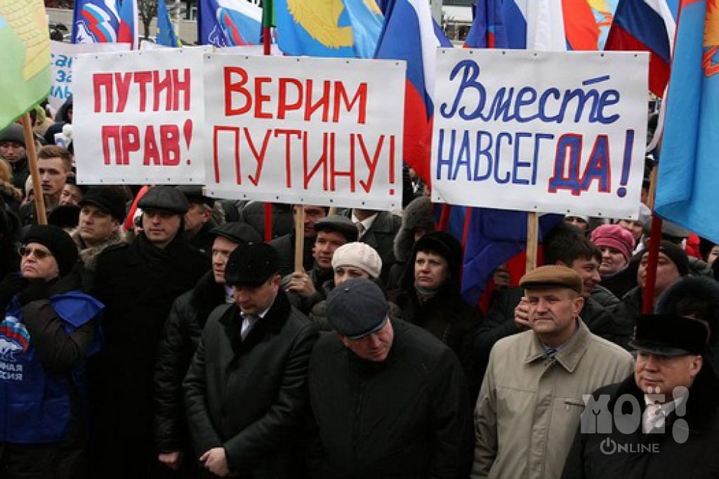
[[[120,25],[117,0],[75,0],[73,43],[113,43]]]

